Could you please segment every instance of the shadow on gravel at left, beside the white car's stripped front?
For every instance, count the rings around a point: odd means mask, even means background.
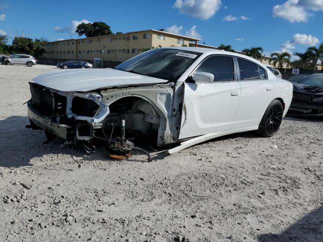
[[[87,154],[78,147],[55,145],[52,142],[44,144],[46,142],[44,132],[26,129],[26,125],[29,124],[27,116],[11,116],[0,120],[0,167],[32,166],[33,158],[41,160],[43,155],[48,154],[51,157],[67,154],[75,160],[82,161],[105,159],[103,153],[99,151]]]

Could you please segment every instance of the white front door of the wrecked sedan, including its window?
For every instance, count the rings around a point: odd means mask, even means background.
[[[232,129],[240,94],[235,66],[230,55],[211,55],[193,71],[211,73],[214,81],[195,83],[189,78],[184,83],[179,139]]]

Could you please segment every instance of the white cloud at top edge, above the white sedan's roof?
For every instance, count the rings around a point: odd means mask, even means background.
[[[209,19],[220,9],[221,0],[176,0],[174,8],[182,14],[198,19]]]

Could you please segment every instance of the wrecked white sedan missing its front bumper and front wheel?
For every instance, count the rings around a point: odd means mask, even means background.
[[[216,137],[279,129],[293,85],[246,55],[199,47],[143,52],[113,69],[41,74],[30,82],[28,128],[71,142],[99,139],[128,158],[139,135],[170,154]]]

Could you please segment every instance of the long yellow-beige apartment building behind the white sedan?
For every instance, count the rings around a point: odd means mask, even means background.
[[[68,39],[45,44],[48,59],[101,58],[103,61],[124,62],[145,48],[158,46],[189,46],[200,39],[172,34],[160,30],[143,30],[124,34],[106,35],[82,39]]]

